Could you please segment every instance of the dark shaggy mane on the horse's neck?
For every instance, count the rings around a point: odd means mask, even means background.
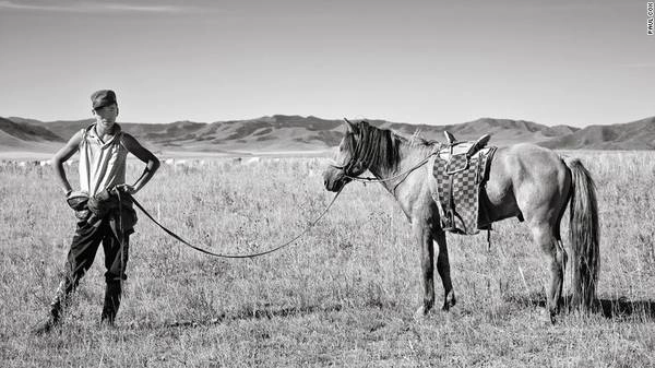
[[[402,158],[400,147],[403,143],[410,146],[431,146],[432,142],[426,141],[417,133],[407,139],[393,130],[377,128],[362,120],[354,133],[357,142],[352,135],[352,139],[347,140],[347,150],[355,159],[367,167],[395,170]]]

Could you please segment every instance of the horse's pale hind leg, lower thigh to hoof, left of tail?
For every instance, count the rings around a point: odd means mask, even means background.
[[[560,309],[560,298],[562,296],[562,285],[564,278],[564,268],[567,263],[567,252],[559,238],[559,226],[551,226],[548,223],[534,223],[531,226],[535,242],[541,248],[546,257],[546,263],[550,271],[549,285],[546,286],[546,308],[550,313],[550,321],[555,321],[555,316]]]

